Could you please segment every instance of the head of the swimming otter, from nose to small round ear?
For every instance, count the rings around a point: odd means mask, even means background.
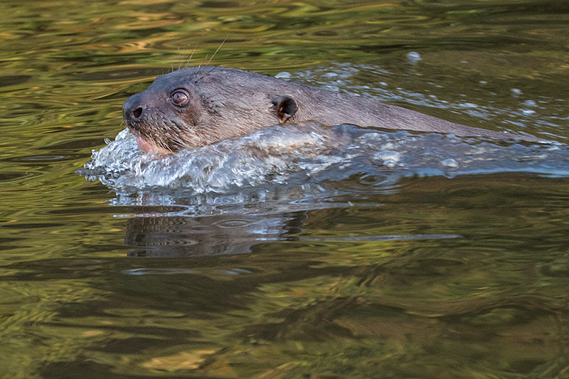
[[[144,152],[167,155],[287,122],[288,95],[262,94],[265,75],[230,68],[183,68],[159,76],[122,105],[124,124]]]

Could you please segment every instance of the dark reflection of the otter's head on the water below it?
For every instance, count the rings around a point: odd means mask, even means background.
[[[304,211],[268,215],[136,217],[127,222],[130,257],[198,257],[243,254],[270,241],[294,240]]]

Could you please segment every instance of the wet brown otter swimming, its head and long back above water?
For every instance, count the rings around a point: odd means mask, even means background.
[[[243,137],[275,124],[307,121],[543,141],[467,127],[376,100],[218,66],[181,68],[161,75],[147,90],[129,97],[122,112],[139,148],[159,155]]]

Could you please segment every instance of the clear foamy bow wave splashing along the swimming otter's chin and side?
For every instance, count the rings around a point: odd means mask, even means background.
[[[319,186],[351,176],[381,183],[408,176],[527,172],[569,175],[563,144],[520,144],[452,134],[410,134],[315,123],[263,129],[240,139],[187,149],[163,158],[139,151],[127,129],[93,151],[79,174],[117,193],[230,193],[263,185]]]

